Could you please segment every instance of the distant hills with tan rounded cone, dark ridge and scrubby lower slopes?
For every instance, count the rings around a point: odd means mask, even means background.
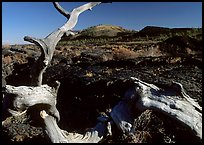
[[[138,40],[165,40],[173,36],[189,36],[192,38],[202,39],[202,28],[166,28],[158,26],[146,26],[143,29],[128,30],[114,25],[97,25],[81,31],[73,37],[63,37],[62,41],[73,40],[99,40],[110,39],[113,41],[138,41]],[[64,42],[65,43],[65,42]]]

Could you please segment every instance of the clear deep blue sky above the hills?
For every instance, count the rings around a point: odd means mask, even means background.
[[[67,11],[85,2],[60,2]],[[2,43],[26,43],[24,36],[44,38],[61,27],[66,18],[52,2],[2,2]],[[202,27],[202,2],[103,3],[79,16],[74,30],[112,24],[141,30],[145,26]]]

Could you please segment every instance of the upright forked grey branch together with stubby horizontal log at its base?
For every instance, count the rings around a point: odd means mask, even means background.
[[[31,77],[32,77],[31,86],[32,87],[21,86],[21,87],[15,88],[9,85],[6,86],[7,94],[15,95],[13,99],[13,107],[14,109],[16,109],[16,111],[22,112],[28,107],[31,107],[39,103],[48,104],[52,106],[52,108],[56,108],[55,107],[56,102],[54,102],[56,100],[53,101],[53,99],[51,99],[52,100],[51,101],[49,100],[49,98],[50,96],[55,96],[55,99],[56,99],[57,91],[60,86],[60,83],[56,82],[55,86],[52,88],[50,88],[48,85],[42,86],[43,73],[45,72],[47,66],[51,62],[54,51],[55,51],[55,47],[57,43],[61,40],[62,36],[65,33],[66,35],[74,35],[74,33],[72,32],[72,29],[76,25],[79,15],[86,10],[91,10],[94,6],[100,3],[101,2],[89,2],[78,8],[73,9],[71,12],[68,12],[65,9],[63,9],[59,5],[58,2],[54,2],[55,8],[67,18],[67,22],[62,27],[53,31],[52,33],[50,33],[47,37],[43,39],[38,39],[34,37],[29,37],[29,36],[24,37],[25,41],[29,41],[40,47],[41,55],[38,58],[38,60],[34,63],[32,70],[31,70]],[[55,91],[50,92],[50,90],[52,89],[55,89]],[[27,93],[26,91],[31,92],[31,93],[26,94]],[[41,92],[44,92],[44,94],[40,94]],[[6,106],[5,102],[4,102],[4,106]],[[13,111],[10,110],[10,111],[14,113],[15,110]],[[55,109],[55,113],[57,112],[58,111]],[[59,115],[57,116],[57,118],[59,118]]]

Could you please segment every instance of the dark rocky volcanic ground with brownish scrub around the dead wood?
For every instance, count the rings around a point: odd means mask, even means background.
[[[175,41],[179,40],[179,41]],[[2,83],[29,85],[30,69],[40,55],[33,45],[2,48]],[[96,124],[101,112],[115,106],[133,85],[130,77],[165,87],[183,84],[202,105],[202,45],[196,39],[106,42],[58,45],[43,83],[59,80],[57,108],[61,129],[83,133]],[[3,87],[2,87],[3,89]],[[137,111],[137,110],[135,110]],[[3,119],[6,114],[3,112]],[[48,142],[41,127],[27,117],[10,117],[3,125],[4,142]],[[114,136],[105,142],[200,142],[186,127],[158,112],[136,113],[134,136]]]

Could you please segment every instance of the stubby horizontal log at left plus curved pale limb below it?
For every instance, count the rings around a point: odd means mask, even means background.
[[[43,128],[53,143],[97,143],[107,134],[111,134],[109,117],[104,115],[98,117],[99,122],[96,126],[84,134],[68,133],[61,130],[57,125],[60,115],[56,108],[56,94],[59,85],[59,83],[54,87],[48,85],[37,87],[6,85],[3,105],[11,104],[11,106],[5,106],[4,108],[10,113],[15,113],[13,115],[21,115],[33,106],[38,107],[38,109],[34,108],[36,111],[39,110],[39,107],[45,109],[45,105],[49,106],[46,107],[46,110],[40,110],[40,116],[44,120]],[[11,101],[11,103],[6,103],[6,100]]]

